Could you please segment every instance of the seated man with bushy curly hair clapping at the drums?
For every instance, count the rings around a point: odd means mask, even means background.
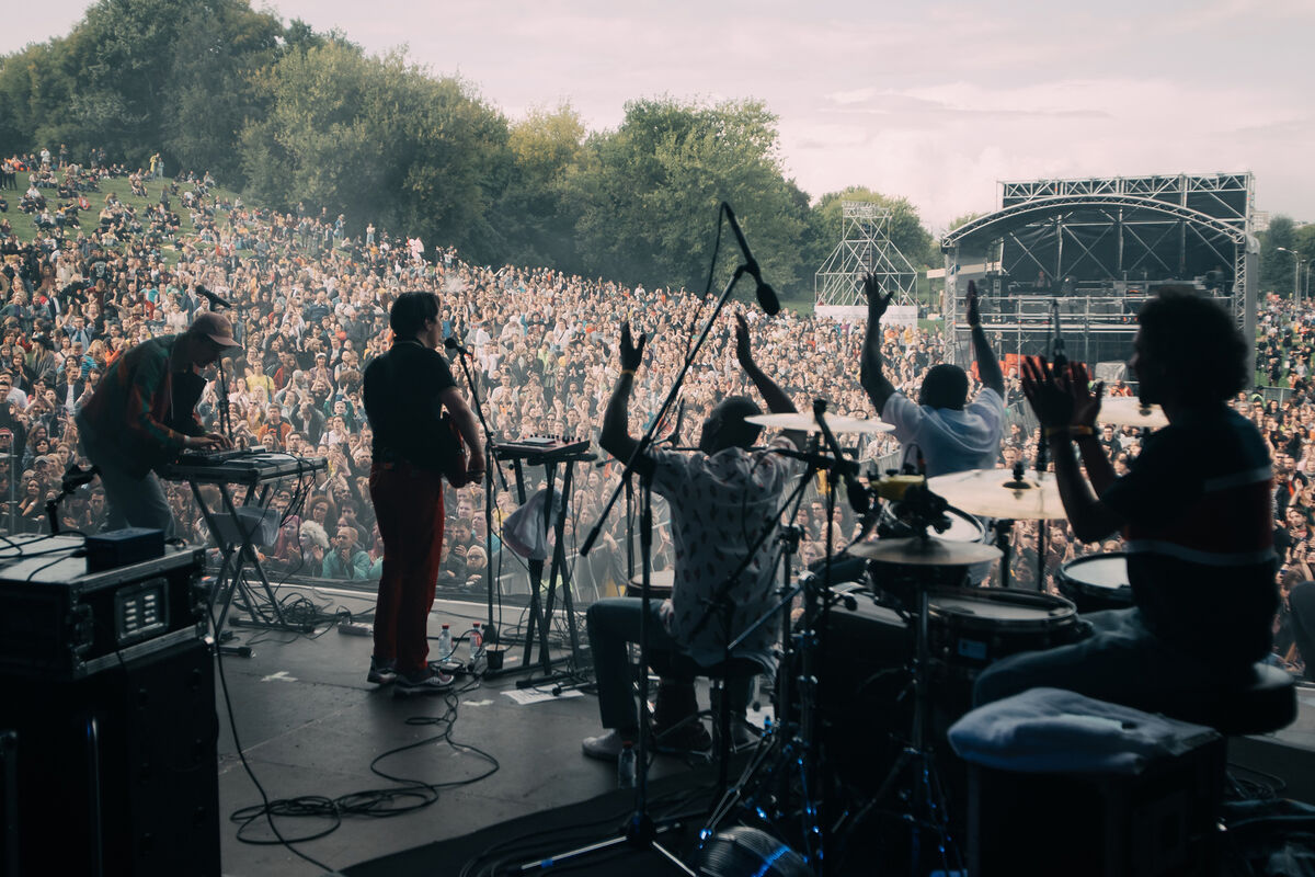
[[[1273,472],[1255,425],[1227,405],[1247,383],[1245,343],[1190,288],[1161,291],[1139,321],[1139,393],[1169,425],[1123,476],[1093,433],[1102,388],[1088,389],[1086,368],[1052,375],[1044,359],[1023,364],[1073,531],[1094,542],[1123,529],[1135,606],[1086,615],[1093,634],[1082,642],[997,661],[976,682],[977,703],[1052,686],[1161,711],[1168,693],[1240,681],[1269,653]]]

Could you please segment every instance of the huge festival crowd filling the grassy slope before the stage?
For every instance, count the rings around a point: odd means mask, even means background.
[[[46,529],[46,500],[59,492],[60,476],[83,460],[74,412],[97,385],[107,366],[146,338],[181,333],[197,313],[221,297],[242,347],[226,360],[229,418],[238,444],[329,460],[327,472],[301,494],[288,485],[275,497],[284,514],[277,536],[264,548],[266,565],[279,576],[377,579],[383,544],[370,502],[371,435],[362,384],[366,366],[388,350],[388,310],[406,291],[439,295],[443,334],[471,351],[452,372],[466,388],[466,369],[483,402],[494,444],[529,435],[597,442],[608,396],[617,379],[618,331],[629,323],[650,338],[647,367],[636,376],[630,427],[643,433],[684,359],[692,331],[706,318],[710,300],[686,291],[609,279],[563,275],[550,268],[476,266],[451,249],[425,251],[418,238],[368,225],[351,229],[342,216],[299,205],[292,212],[255,208],[239,197],[216,193],[203,172],[168,179],[160,168],[129,171],[93,151],[84,164],[67,150],[11,156],[5,180],[24,196],[17,209],[33,217],[37,235],[21,239],[0,214],[0,501],[11,531]],[[120,184],[120,181],[122,184]],[[132,197],[118,192],[126,191]],[[96,220],[89,221],[91,212]],[[47,221],[49,220],[49,221]],[[863,321],[800,316],[767,320],[744,309],[755,354],[771,363],[772,377],[800,410],[815,397],[828,412],[874,417],[859,383]],[[1257,369],[1282,400],[1245,394],[1239,410],[1261,427],[1276,462],[1276,530],[1283,552],[1283,581],[1315,579],[1311,569],[1315,523],[1315,385],[1311,384],[1310,314],[1290,302],[1264,304],[1257,339]],[[945,337],[936,329],[886,329],[882,354],[886,376],[901,392],[914,393],[927,369],[945,358]],[[1018,376],[1006,375],[1006,402],[1018,402]],[[978,387],[970,388],[976,394]],[[698,423],[717,400],[752,394],[736,364],[734,318],[727,313],[690,369],[681,404],[690,415],[661,425],[660,435],[677,447],[697,443]],[[220,414],[212,381],[197,405],[203,421]],[[1009,409],[1001,465],[1035,459],[1036,435],[1022,406]],[[675,418],[673,418],[675,419]],[[865,462],[889,467],[898,443],[889,435],[842,437],[856,443]],[[1116,472],[1127,468],[1141,442],[1132,427],[1105,427]],[[893,456],[894,455],[894,456]],[[565,521],[568,556],[575,563],[579,596],[588,601],[617,593],[626,576],[627,534],[622,514],[604,527],[600,550],[575,559],[573,547],[602,513],[619,465],[579,467]],[[533,468],[527,477],[540,473]],[[494,477],[493,555],[485,548],[484,493],[450,490],[448,527],[439,586],[451,592],[481,589],[484,571],[517,571],[501,547],[498,527],[515,509],[514,485]],[[537,484],[527,488],[533,492]],[[185,536],[209,542],[209,534],[185,484],[166,488]],[[801,563],[825,554],[826,481],[810,486],[800,523],[805,538]],[[295,501],[300,501],[296,505]],[[665,511],[659,509],[659,517]],[[835,547],[856,534],[859,521],[847,502],[836,504]],[[66,500],[59,525],[89,533],[107,515],[104,493],[92,486]],[[1045,557],[1038,563],[1039,526],[1019,523],[1014,539],[1014,581],[1045,586],[1055,572],[1093,550],[1077,542],[1064,522],[1048,522]],[[671,536],[656,533],[658,568],[673,563]],[[1282,618],[1281,622],[1282,623]],[[1290,638],[1279,635],[1285,657]]]

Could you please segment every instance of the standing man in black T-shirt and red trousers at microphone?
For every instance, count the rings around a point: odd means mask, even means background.
[[[464,484],[484,480],[484,450],[469,406],[438,352],[443,326],[438,296],[406,292],[389,313],[396,341],[366,367],[366,417],[373,431],[370,498],[384,539],[375,606],[371,682],[396,693],[441,692],[452,677],[429,667],[429,613],[443,550],[443,469],[447,410],[466,442]],[[456,484],[455,486],[460,486]]]

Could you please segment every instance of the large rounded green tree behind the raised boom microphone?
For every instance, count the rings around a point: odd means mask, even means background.
[[[701,291],[727,201],[768,280],[785,297],[811,293],[798,246],[807,196],[781,174],[776,116],[761,103],[633,101],[621,128],[586,149],[573,185],[586,272]],[[714,287],[738,259],[725,233]]]

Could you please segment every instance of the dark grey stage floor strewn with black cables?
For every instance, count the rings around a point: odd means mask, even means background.
[[[373,605],[368,594],[304,593],[317,604],[342,605],[354,613],[368,611]],[[471,621],[484,621],[485,614],[481,604],[439,601],[430,628],[437,634],[448,622],[454,631],[464,630]],[[506,607],[509,627],[519,618],[519,609]],[[379,767],[397,777],[433,784],[460,781],[488,769],[475,755],[437,739],[443,726],[417,723],[443,714],[442,697],[397,698],[391,689],[366,682],[368,638],[343,635],[334,628],[316,639],[239,628],[237,642],[250,643],[254,655],[222,660],[231,715],[247,763],[270,798],[337,798],[354,792],[400,789],[371,773],[371,761],[396,747],[427,739]],[[518,660],[521,653],[517,648],[513,656]],[[506,692],[515,692],[522,677],[508,675],[458,697],[451,739],[492,755],[500,765],[497,772],[469,785],[443,789],[437,803],[414,813],[388,819],[346,817],[335,831],[297,844],[299,849],[334,869],[345,869],[614,790],[615,768],[580,752],[580,740],[600,731],[596,698],[571,692],[552,697],[548,692],[542,702],[521,705]],[[459,677],[459,684],[463,681],[469,682]],[[1302,686],[1299,702],[1301,713],[1291,727],[1235,746],[1231,760],[1279,776],[1287,784],[1285,794],[1315,803],[1315,686]],[[229,814],[259,805],[260,794],[238,759],[222,689],[218,711],[222,873],[227,877],[322,873],[281,845],[252,845],[238,839],[238,826],[229,820]],[[680,759],[661,756],[651,776],[689,769]],[[318,818],[280,818],[277,824],[289,839],[330,827]],[[247,831],[254,839],[272,839],[263,819]],[[435,873],[458,869],[459,863],[444,863]]]

